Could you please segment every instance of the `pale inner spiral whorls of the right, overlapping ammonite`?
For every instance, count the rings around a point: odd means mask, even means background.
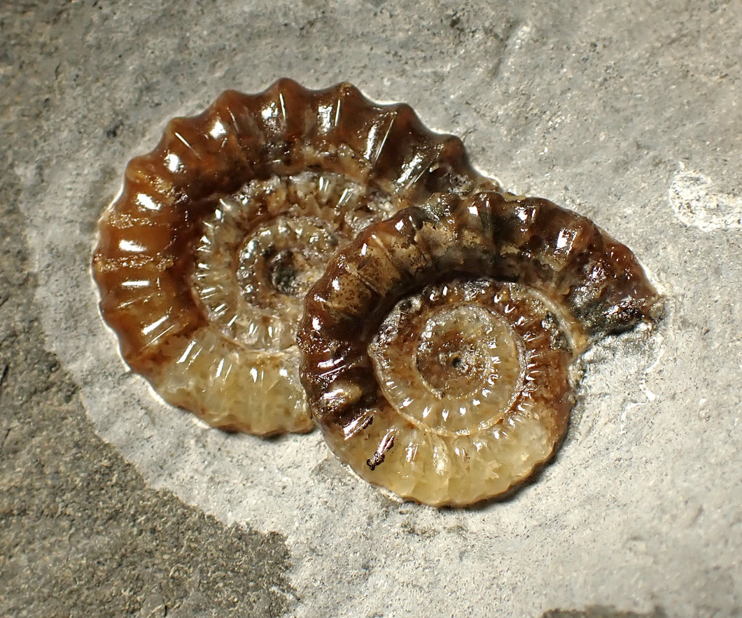
[[[470,282],[453,281],[402,300],[370,346],[390,403],[436,433],[492,427],[504,418],[522,380],[516,338],[492,299],[479,294],[475,303],[462,302],[472,300],[473,289]]]

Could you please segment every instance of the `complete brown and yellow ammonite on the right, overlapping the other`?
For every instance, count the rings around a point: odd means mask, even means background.
[[[310,410],[362,478],[427,504],[545,463],[586,347],[660,307],[633,254],[547,200],[434,196],[329,262],[298,331]]]

